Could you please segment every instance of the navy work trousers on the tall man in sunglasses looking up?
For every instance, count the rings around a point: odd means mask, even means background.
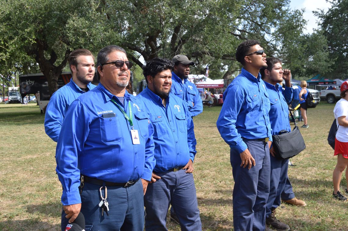
[[[240,167],[239,152],[231,149],[230,160],[233,179],[233,225],[235,231],[264,230],[266,203],[269,195],[270,159],[268,144],[243,139],[255,159],[250,170]]]

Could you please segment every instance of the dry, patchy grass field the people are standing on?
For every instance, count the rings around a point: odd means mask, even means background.
[[[332,199],[336,164],[326,138],[334,105],[308,109],[307,148],[292,159],[289,178],[306,207],[282,204],[277,218],[291,230],[348,230],[348,203]],[[197,138],[195,182],[203,230],[233,230],[232,168],[229,147],[216,129],[221,107],[204,108],[194,118]],[[299,123],[301,126],[303,123]],[[60,230],[61,184],[55,173],[55,147],[35,104],[0,104],[0,230]],[[343,174],[341,192],[346,188]],[[169,230],[180,227],[168,221]]]

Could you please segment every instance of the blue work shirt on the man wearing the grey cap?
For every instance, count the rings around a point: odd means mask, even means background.
[[[203,112],[203,101],[200,97],[197,86],[188,79],[184,79],[184,83],[180,77],[172,72],[172,88],[171,92],[180,99],[184,100],[191,116],[196,116]],[[192,102],[194,105],[192,105]]]

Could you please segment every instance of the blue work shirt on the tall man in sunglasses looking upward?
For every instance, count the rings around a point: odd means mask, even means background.
[[[240,153],[247,149],[242,137],[268,137],[272,141],[269,110],[269,96],[260,73],[255,78],[242,68],[223,93],[223,105],[216,126],[224,141]]]

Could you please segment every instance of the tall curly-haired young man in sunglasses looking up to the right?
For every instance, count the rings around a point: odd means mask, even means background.
[[[236,59],[243,68],[223,93],[216,125],[231,148],[234,230],[265,230],[272,135],[269,96],[259,71],[267,67],[266,54],[259,42],[247,40],[239,44]]]

